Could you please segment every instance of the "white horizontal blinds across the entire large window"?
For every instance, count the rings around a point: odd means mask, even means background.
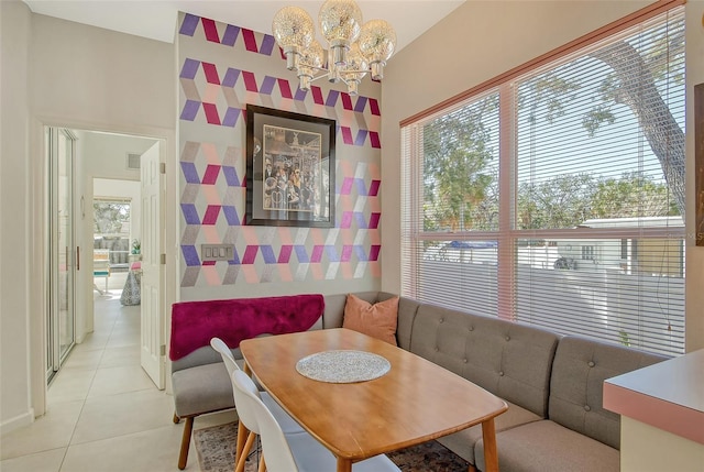
[[[672,8],[402,128],[402,293],[684,351]]]

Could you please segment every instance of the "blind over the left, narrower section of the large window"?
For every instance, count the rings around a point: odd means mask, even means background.
[[[402,176],[413,182],[402,196],[402,278],[419,299],[498,315],[498,128],[491,90],[403,130],[414,157]]]

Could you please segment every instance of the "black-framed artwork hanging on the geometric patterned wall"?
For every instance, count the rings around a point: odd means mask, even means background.
[[[334,227],[336,121],[246,106],[246,224]]]

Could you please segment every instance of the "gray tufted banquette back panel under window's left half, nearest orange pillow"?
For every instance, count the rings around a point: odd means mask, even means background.
[[[558,340],[535,327],[421,304],[410,351],[544,418]]]

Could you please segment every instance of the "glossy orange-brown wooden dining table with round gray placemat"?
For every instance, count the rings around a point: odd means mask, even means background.
[[[494,418],[506,402],[424,358],[344,328],[248,339],[240,349],[245,372],[336,455],[338,472],[480,424],[485,470],[498,470]],[[381,355],[391,369],[354,383],[321,382],[296,369],[304,358],[338,350]]]

